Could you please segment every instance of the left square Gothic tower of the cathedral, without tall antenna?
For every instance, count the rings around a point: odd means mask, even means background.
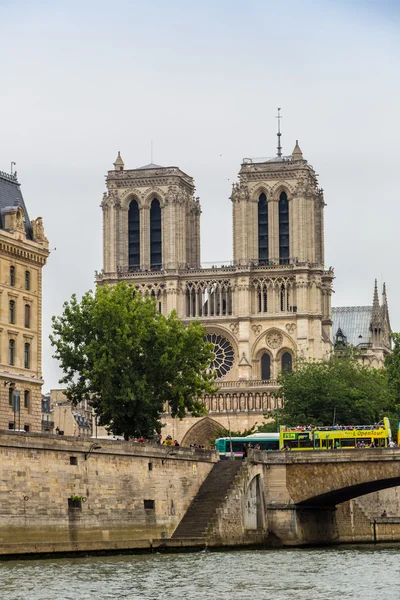
[[[200,204],[193,179],[153,163],[125,170],[118,152],[103,209],[106,273],[200,265]]]

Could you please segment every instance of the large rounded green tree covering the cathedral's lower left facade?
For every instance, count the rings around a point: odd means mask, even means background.
[[[63,309],[50,336],[64,372],[60,383],[73,404],[91,402],[100,425],[150,438],[161,430],[166,401],[174,417],[205,412],[199,398],[215,391],[215,375],[212,344],[199,323],[185,327],[175,312],[161,315],[155,301],[125,283],[98,287],[81,302],[73,295]]]

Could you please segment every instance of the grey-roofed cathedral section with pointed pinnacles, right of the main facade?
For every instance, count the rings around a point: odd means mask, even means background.
[[[391,352],[391,328],[383,284],[382,303],[379,303],[375,279],[371,306],[341,306],[332,308],[332,333],[336,352],[353,346],[360,352],[364,364],[381,367]]]

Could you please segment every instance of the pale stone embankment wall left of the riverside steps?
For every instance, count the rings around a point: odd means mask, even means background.
[[[0,432],[0,553],[169,537],[216,460],[207,451],[103,440],[85,460],[91,446]]]

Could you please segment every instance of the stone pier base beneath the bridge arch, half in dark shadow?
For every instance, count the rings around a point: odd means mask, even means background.
[[[268,531],[283,546],[339,542],[336,508],[333,506],[267,506]]]

